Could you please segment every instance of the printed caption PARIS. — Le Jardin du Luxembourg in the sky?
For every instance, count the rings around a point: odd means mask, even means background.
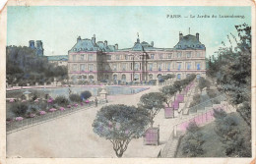
[[[181,16],[181,15],[172,15],[166,14],[167,19],[181,19],[181,18],[188,18],[188,19],[244,19],[243,15],[189,15],[189,16]]]

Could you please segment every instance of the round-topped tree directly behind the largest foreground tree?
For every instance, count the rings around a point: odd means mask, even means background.
[[[153,128],[154,118],[160,112],[160,109],[164,108],[163,102],[165,97],[160,92],[150,92],[143,94],[140,98],[138,106],[146,109],[149,112],[151,127]]]

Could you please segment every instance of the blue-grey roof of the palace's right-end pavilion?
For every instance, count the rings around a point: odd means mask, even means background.
[[[195,35],[188,34],[179,40],[174,49],[206,49],[206,47]]]

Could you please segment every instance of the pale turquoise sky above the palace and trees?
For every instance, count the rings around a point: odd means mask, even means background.
[[[181,31],[183,35],[199,32],[207,56],[212,56],[222,41],[228,42],[227,34],[237,35],[235,25],[251,25],[250,14],[250,7],[8,6],[7,45],[29,46],[29,40],[42,40],[44,55],[67,55],[78,36],[91,39],[96,34],[96,41],[107,40],[111,45],[118,43],[119,48],[130,48],[139,33],[141,41],[172,48]],[[197,18],[198,15],[210,18]]]

